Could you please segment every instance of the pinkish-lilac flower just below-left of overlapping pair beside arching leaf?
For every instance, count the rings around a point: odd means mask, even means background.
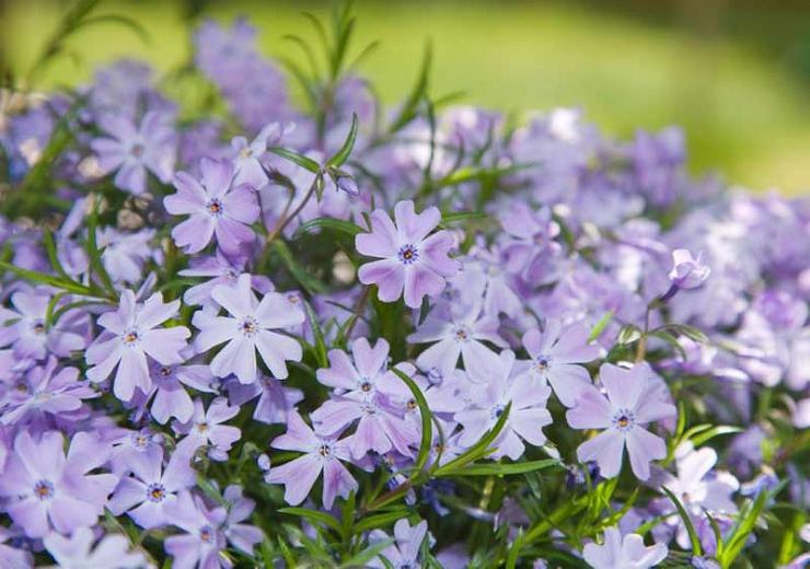
[[[323,437],[313,431],[298,413],[290,413],[287,432],[270,443],[274,449],[300,451],[299,456],[288,463],[270,468],[265,480],[285,485],[285,501],[292,506],[303,502],[312,486],[323,472],[323,506],[332,509],[336,496],[347,498],[358,489],[357,480],[340,461],[351,460],[346,439]]]

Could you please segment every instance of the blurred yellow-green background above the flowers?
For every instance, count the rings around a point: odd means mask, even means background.
[[[68,4],[0,2],[0,62],[18,74],[35,60]],[[108,1],[149,32],[89,27],[70,57],[37,86],[76,84],[117,57],[170,69],[188,55],[186,15],[247,15],[267,54],[290,55],[285,34],[312,37],[300,15],[328,2]],[[810,191],[810,2],[807,0],[362,1],[355,49],[380,48],[361,66],[386,102],[404,96],[425,40],[433,44],[433,95],[463,90],[464,102],[504,111],[585,108],[603,130],[676,124],[690,165],[731,183],[788,194]]]

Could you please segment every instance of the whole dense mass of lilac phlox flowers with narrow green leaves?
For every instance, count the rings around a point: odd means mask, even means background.
[[[810,202],[334,18],[302,105],[206,22],[0,117],[0,566],[802,567]]]

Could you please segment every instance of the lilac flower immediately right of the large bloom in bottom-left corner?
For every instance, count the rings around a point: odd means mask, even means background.
[[[175,451],[163,467],[163,453],[132,455],[127,471],[109,499],[109,511],[127,513],[135,523],[150,530],[169,523],[167,512],[177,502],[177,493],[196,483],[196,473],[188,465],[190,456]]]

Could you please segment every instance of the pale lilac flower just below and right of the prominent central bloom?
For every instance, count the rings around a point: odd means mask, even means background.
[[[408,336],[412,344],[436,342],[416,359],[419,369],[450,375],[461,357],[464,369],[486,376],[498,368],[498,356],[484,341],[500,348],[507,342],[498,334],[498,317],[481,314],[481,302],[473,306],[441,303],[433,306],[421,326]],[[474,379],[474,378],[471,378]]]

